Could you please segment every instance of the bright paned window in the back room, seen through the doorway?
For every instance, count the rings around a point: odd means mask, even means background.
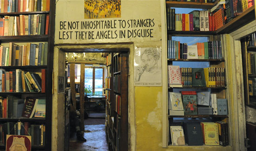
[[[84,87],[90,91],[87,95],[102,95],[103,68],[86,67],[84,76]]]

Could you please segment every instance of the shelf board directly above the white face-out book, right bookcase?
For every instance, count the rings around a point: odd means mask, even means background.
[[[206,35],[216,35],[215,31],[167,31],[168,35],[172,36],[192,36],[192,35],[197,35],[197,36],[206,36]]]

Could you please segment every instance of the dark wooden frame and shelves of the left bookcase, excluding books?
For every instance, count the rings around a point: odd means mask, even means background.
[[[12,2],[18,3],[18,0],[13,0]],[[26,2],[26,0],[24,0],[24,2]],[[14,10],[15,12],[5,12],[5,11],[1,11],[0,16],[1,19],[4,19],[5,16],[8,17],[13,17],[15,20],[20,17],[20,16],[32,16],[32,15],[37,15],[38,16],[38,20],[41,19],[42,15],[45,16],[45,29],[43,30],[43,26],[39,26],[42,24],[38,24],[37,28],[42,27],[40,29],[42,29],[43,33],[37,33],[37,35],[35,33],[33,34],[25,34],[25,32],[23,34],[21,34],[20,32],[18,32],[18,24],[15,25],[15,22],[13,22],[13,25],[9,24],[7,26],[14,26],[14,30],[13,33],[11,35],[1,35],[0,36],[0,44],[2,46],[5,47],[9,47],[10,43],[13,44],[17,44],[17,45],[26,45],[27,43],[30,44],[39,44],[39,43],[43,43],[46,44],[46,56],[47,59],[45,59],[45,64],[44,65],[32,65],[32,64],[8,64],[8,66],[0,66],[0,69],[5,70],[5,71],[15,71],[16,69],[21,69],[22,71],[25,71],[25,73],[27,71],[31,72],[31,73],[37,73],[40,75],[41,77],[41,69],[46,70],[46,74],[45,74],[45,92],[30,92],[30,91],[26,91],[26,92],[0,92],[0,96],[3,98],[6,98],[8,96],[16,96],[18,98],[22,98],[22,99],[26,99],[27,97],[29,98],[38,98],[38,97],[44,97],[46,98],[46,118],[24,118],[24,117],[19,117],[19,118],[12,118],[12,117],[7,117],[7,118],[0,118],[0,122],[1,125],[7,122],[12,122],[12,123],[16,123],[18,121],[22,122],[23,124],[25,124],[25,122],[28,123],[29,127],[30,126],[41,126],[44,125],[45,126],[45,136],[44,136],[44,140],[43,140],[43,145],[42,144],[35,144],[35,141],[32,139],[32,151],[50,151],[51,150],[51,131],[52,131],[52,72],[53,72],[53,48],[54,48],[54,28],[49,28],[49,26],[54,26],[54,20],[55,20],[55,2],[54,1],[50,1],[50,0],[45,0],[42,3],[47,2],[47,8],[44,6],[41,7],[41,9],[43,9],[43,11],[39,10],[39,6],[38,6],[38,10],[36,11],[36,9],[29,9],[29,10],[22,10],[17,12],[17,10]],[[15,6],[15,5],[13,5]],[[24,7],[25,8],[25,7]],[[2,8],[3,9],[3,8]],[[28,8],[27,8],[28,9]],[[44,11],[46,10],[47,11]],[[48,19],[47,19],[48,16]],[[17,21],[17,20],[16,20]],[[36,20],[37,21],[37,20]],[[16,22],[17,23],[17,22]],[[28,24],[28,20],[25,20],[24,17],[24,22],[23,22],[23,29],[25,31],[25,23]],[[41,22],[43,23],[43,22]],[[17,27],[17,28],[16,28]],[[16,29],[15,29],[16,28]],[[4,27],[3,27],[4,29]],[[46,31],[47,29],[47,31]],[[20,29],[19,29],[20,30]],[[28,29],[26,29],[27,31]],[[39,30],[37,30],[39,31]],[[48,33],[47,33],[48,32]],[[47,34],[46,34],[47,33]],[[26,48],[26,50],[29,50],[28,47]],[[2,52],[2,51],[1,51]],[[20,58],[19,58],[20,59]],[[23,59],[23,58],[21,58]],[[23,59],[25,60],[25,59]],[[26,62],[26,60],[25,60]],[[42,77],[41,77],[42,78]],[[26,83],[25,83],[26,84]],[[25,86],[26,87],[26,86]],[[4,132],[3,132],[4,133]],[[32,133],[30,133],[32,135]],[[36,140],[41,139],[41,135],[39,135],[38,137],[36,137]],[[0,149],[5,149],[5,144],[0,145]]]

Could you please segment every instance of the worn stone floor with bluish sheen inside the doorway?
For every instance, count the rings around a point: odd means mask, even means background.
[[[69,151],[108,151],[104,117],[105,113],[90,113],[85,119],[84,137],[87,142],[77,141],[75,132],[71,132]]]

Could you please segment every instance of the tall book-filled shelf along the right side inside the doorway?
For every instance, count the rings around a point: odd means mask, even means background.
[[[106,133],[110,151],[128,151],[128,69],[126,52],[108,54],[105,79]]]

